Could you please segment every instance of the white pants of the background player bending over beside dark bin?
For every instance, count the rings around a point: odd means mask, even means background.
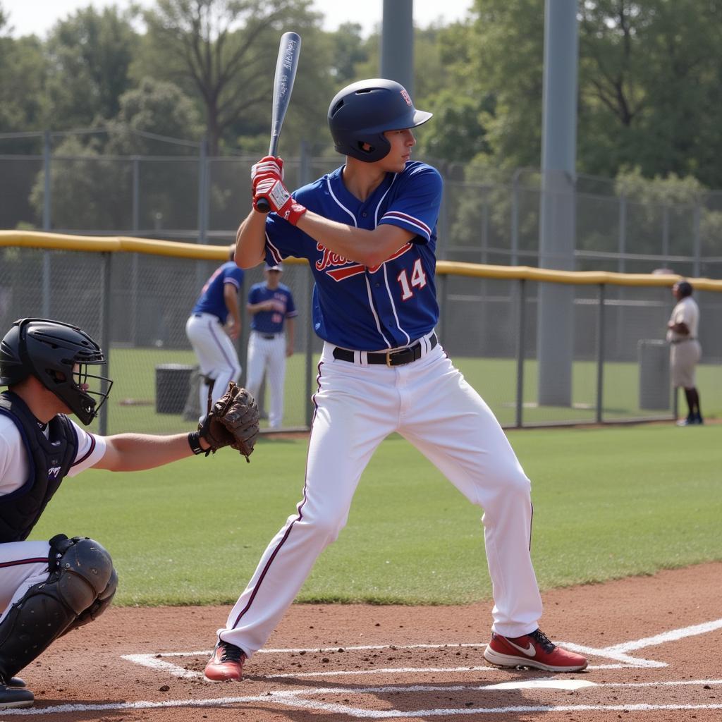
[[[186,336],[196,352],[201,374],[212,378],[212,401],[217,401],[228,388],[230,381],[238,381],[240,362],[238,353],[223,330],[223,326],[213,313],[191,313],[186,321]],[[208,386],[204,379],[199,384],[199,400],[201,417],[208,407]]]

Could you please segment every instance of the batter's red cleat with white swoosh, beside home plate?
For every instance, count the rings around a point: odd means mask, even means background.
[[[541,630],[513,638],[492,632],[484,659],[498,667],[534,667],[548,672],[578,672],[587,666],[586,657],[557,647]]]

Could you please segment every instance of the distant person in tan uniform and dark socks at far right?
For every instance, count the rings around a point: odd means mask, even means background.
[[[700,325],[700,309],[692,298],[692,284],[679,281],[672,287],[672,295],[677,305],[667,323],[667,341],[671,344],[669,363],[672,386],[684,388],[689,413],[686,419],[679,421],[680,426],[693,426],[703,423],[700,409],[700,392],[695,381],[697,363],[702,357],[702,347],[697,340]]]

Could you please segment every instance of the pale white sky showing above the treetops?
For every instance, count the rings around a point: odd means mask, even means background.
[[[414,0],[414,23],[425,27],[432,22],[448,24],[464,19],[472,0]],[[48,30],[58,20],[65,19],[80,8],[88,5],[100,9],[108,5],[126,7],[130,0],[0,0],[1,6],[9,15],[12,35],[34,33],[45,38]],[[151,6],[152,0],[139,0],[143,6]],[[361,14],[358,8],[365,4],[367,10]],[[316,12],[325,17],[324,30],[336,30],[344,22],[357,22],[368,35],[380,25],[383,13],[383,0],[314,0]]]

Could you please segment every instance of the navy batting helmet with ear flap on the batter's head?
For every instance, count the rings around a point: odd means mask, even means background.
[[[343,155],[373,163],[391,145],[384,131],[415,128],[432,113],[416,110],[403,85],[383,78],[360,80],[339,90],[329,105],[329,128],[334,147]],[[365,146],[369,149],[365,149]]]

